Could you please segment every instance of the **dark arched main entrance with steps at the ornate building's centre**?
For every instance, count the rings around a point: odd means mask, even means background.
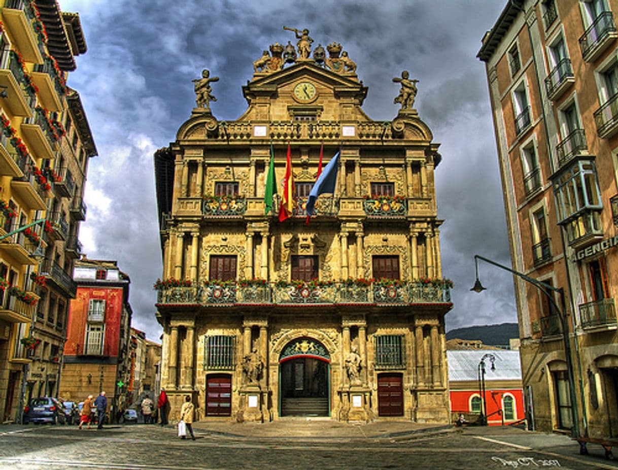
[[[331,357],[320,341],[297,338],[279,355],[279,416],[329,416]]]

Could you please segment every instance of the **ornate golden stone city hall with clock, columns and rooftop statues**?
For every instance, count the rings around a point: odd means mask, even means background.
[[[441,155],[413,108],[416,80],[377,84],[400,87],[401,109],[372,121],[342,46],[312,51],[308,30],[292,31],[296,48],[275,43],[253,63],[242,116],[214,116],[218,77],[204,70],[197,108],[155,153],[171,419],[191,395],[197,419],[447,422]],[[318,167],[339,150],[334,192],[307,223]],[[279,217],[282,202],[293,208]]]

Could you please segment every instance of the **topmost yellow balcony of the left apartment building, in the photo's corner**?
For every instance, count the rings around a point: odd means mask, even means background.
[[[11,42],[22,54],[23,59],[41,64],[43,57],[39,39],[32,27],[35,12],[29,3],[24,0],[5,0],[2,7],[2,22],[11,36]]]

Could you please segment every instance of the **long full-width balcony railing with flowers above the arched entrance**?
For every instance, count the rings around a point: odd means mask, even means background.
[[[157,293],[160,305],[307,305],[307,304],[373,304],[411,305],[448,304],[451,289],[444,285],[400,281],[387,283],[240,283],[207,284],[205,286],[164,288]]]

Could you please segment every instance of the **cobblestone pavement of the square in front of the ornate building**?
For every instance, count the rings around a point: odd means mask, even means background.
[[[172,426],[0,426],[0,468],[20,469],[618,469],[601,446],[513,428],[454,429],[332,421],[199,422],[197,440]]]

